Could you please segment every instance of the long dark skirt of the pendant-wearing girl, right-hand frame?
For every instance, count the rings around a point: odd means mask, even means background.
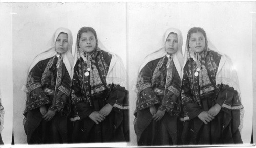
[[[202,106],[208,111],[215,105],[211,97],[204,98]],[[185,122],[182,132],[182,143],[187,144],[242,144],[240,131],[240,111],[225,110],[215,116],[215,119],[204,124],[198,117]]]

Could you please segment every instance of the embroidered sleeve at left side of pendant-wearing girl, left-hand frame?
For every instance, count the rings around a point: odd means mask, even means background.
[[[88,117],[94,110],[90,107],[89,103],[85,102],[82,97],[81,83],[78,74],[78,63],[74,67],[74,75],[72,81],[72,91],[71,91],[71,104],[72,108],[80,119]]]

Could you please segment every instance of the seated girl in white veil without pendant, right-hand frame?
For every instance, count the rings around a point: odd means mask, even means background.
[[[148,55],[139,69],[134,113],[138,146],[178,144],[182,44],[181,31],[168,29],[159,50]]]

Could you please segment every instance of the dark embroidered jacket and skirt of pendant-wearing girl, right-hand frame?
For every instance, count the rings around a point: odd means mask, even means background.
[[[197,66],[192,58],[188,59],[184,67],[181,101],[185,116],[181,119],[185,122],[182,142],[185,145],[242,143],[238,129],[239,108],[242,105],[238,92],[226,84],[216,85],[216,73],[222,55],[205,50],[201,57],[202,70],[198,76],[194,75]],[[208,111],[216,103],[222,106],[221,111],[214,120],[204,124],[197,116],[202,111]],[[225,105],[230,108],[224,108]]]

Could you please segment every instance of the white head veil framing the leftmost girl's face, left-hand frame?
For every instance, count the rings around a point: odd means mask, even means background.
[[[28,75],[29,75],[29,72],[31,71],[31,69],[40,61],[42,60],[45,60],[47,58],[51,58],[53,56],[55,56],[57,54],[56,50],[55,50],[55,42],[56,42],[56,39],[57,37],[59,36],[60,33],[67,33],[68,34],[68,42],[69,42],[69,46],[68,46],[68,51],[63,53],[62,56],[63,56],[63,63],[69,73],[69,76],[72,80],[72,77],[73,77],[73,73],[72,73],[72,65],[73,65],[73,55],[72,55],[72,45],[73,45],[73,36],[72,36],[72,33],[69,29],[67,28],[58,28],[54,34],[52,35],[52,38],[50,39],[50,41],[48,42],[47,46],[46,46],[46,51],[40,53],[39,55],[37,55],[30,67],[29,67],[29,70],[27,72],[27,76],[26,76],[26,80],[28,78]],[[26,82],[24,82],[24,85],[23,85],[23,88],[22,90],[26,92]]]

